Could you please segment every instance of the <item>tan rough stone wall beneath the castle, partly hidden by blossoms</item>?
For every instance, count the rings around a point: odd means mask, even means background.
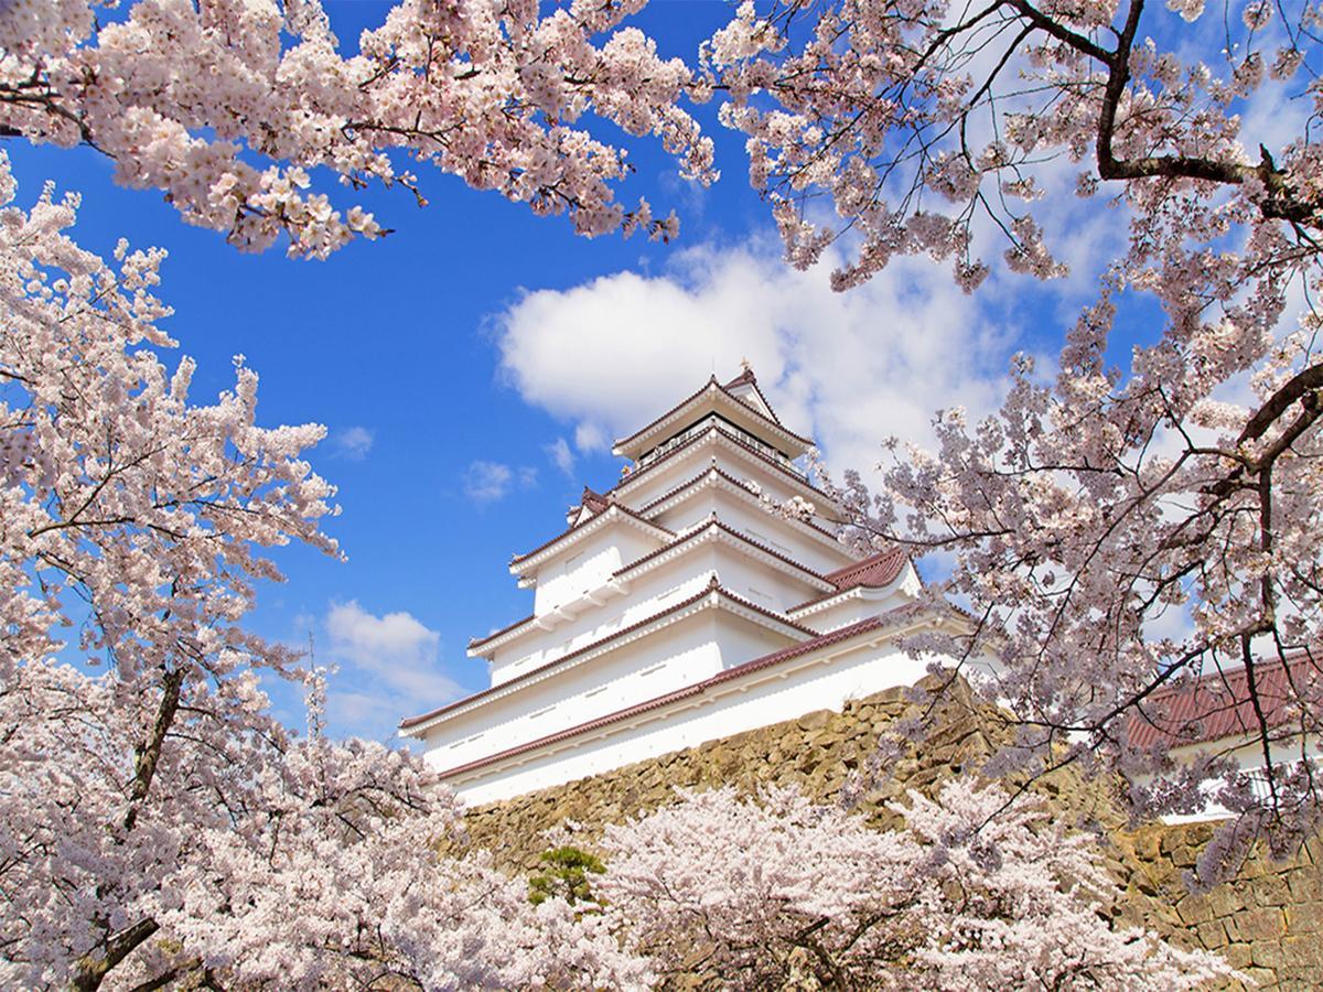
[[[876,749],[880,733],[916,716],[906,689],[851,702],[841,713],[819,710],[712,741],[590,779],[541,790],[468,812],[471,843],[488,848],[499,864],[529,873],[546,848],[542,833],[566,819],[589,828],[619,823],[671,802],[676,787],[798,783],[807,794],[835,799],[847,776]],[[885,768],[867,794],[861,812],[878,828],[900,817],[889,804],[909,788],[929,791],[938,782],[978,763],[994,749],[996,713],[978,710],[963,692],[934,714],[937,731],[922,746]],[[1207,843],[1207,824],[1147,827],[1129,832],[1110,791],[1072,775],[1058,775],[1040,790],[1069,823],[1094,823],[1107,831],[1107,862],[1126,898],[1123,919],[1142,923],[1185,947],[1224,954],[1265,988],[1323,988],[1323,847],[1311,841],[1289,864],[1253,858],[1240,876],[1209,893],[1183,884]]]

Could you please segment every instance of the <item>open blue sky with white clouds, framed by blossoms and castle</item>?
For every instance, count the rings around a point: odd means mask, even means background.
[[[353,37],[388,4],[328,9]],[[638,22],[689,57],[728,16],[721,3],[658,3]],[[623,200],[677,209],[673,246],[577,238],[564,218],[421,169],[426,209],[402,190],[340,197],[396,229],[381,242],[325,262],[241,255],[184,226],[157,193],[115,186],[91,151],[7,143],[20,202],[46,179],[83,193],[83,246],[108,255],[123,235],[168,249],[161,296],[180,352],[198,360],[194,395],[228,388],[243,353],[262,377],[263,423],[327,425],[314,464],[340,487],[328,529],[349,561],[280,552],[288,581],[262,590],[253,627],[295,643],[312,632],[319,661],[340,667],[333,733],[385,739],[401,716],[486,686],[467,640],[531,606],[511,554],[561,529],[585,483],[613,484],[611,434],[709,372],[733,376],[751,358],[783,419],[815,433],[835,464],[867,466],[889,434],[922,440],[937,407],[992,409],[1008,354],[1054,351],[1093,286],[1089,259],[1115,238],[1119,218],[1094,206],[1085,221],[1060,218],[1080,261],[1064,283],[995,278],[971,300],[945,267],[917,261],[833,296],[827,266],[782,267],[742,138],[710,110],[724,169],[710,190],[628,144],[638,173]]]

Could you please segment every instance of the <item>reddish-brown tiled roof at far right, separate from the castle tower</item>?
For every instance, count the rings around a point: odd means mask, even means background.
[[[1293,685],[1294,684],[1294,685]],[[1297,701],[1323,696],[1323,652],[1299,652],[1254,664],[1254,689],[1269,729],[1286,725]],[[1249,690],[1249,672],[1209,672],[1193,684],[1159,689],[1130,717],[1129,739],[1136,747],[1207,743],[1258,734],[1261,727]]]

